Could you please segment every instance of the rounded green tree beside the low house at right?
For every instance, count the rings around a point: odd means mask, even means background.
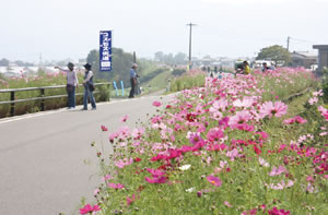
[[[272,60],[276,63],[283,61],[284,64],[288,64],[291,61],[291,53],[282,46],[274,45],[262,48],[256,57],[256,60]]]

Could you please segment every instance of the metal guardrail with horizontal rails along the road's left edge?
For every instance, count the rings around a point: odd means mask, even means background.
[[[95,86],[98,85],[110,85],[110,83],[94,83]],[[83,86],[83,84],[79,84],[79,86]],[[66,88],[66,85],[57,85],[57,86],[43,86],[43,87],[27,87],[27,88],[7,88],[7,89],[0,89],[0,93],[10,93],[10,100],[0,101],[0,105],[7,105],[11,104],[10,107],[10,115],[13,117],[15,115],[15,104],[16,103],[26,103],[32,100],[40,100],[40,110],[45,110],[45,100],[51,99],[51,98],[65,98],[68,97],[68,95],[56,95],[56,96],[45,96],[46,89],[52,89],[52,88]],[[26,92],[26,91],[40,91],[39,97],[34,98],[25,98],[25,99],[15,99],[15,93],[16,92]],[[98,94],[99,92],[95,91],[94,94]],[[83,93],[77,93],[75,96],[81,96]],[[110,97],[110,91],[109,91],[109,97]]]

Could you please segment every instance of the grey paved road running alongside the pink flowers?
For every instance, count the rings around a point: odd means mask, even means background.
[[[167,101],[172,96],[164,96]],[[99,183],[93,141],[154,114],[160,96],[98,104],[97,110],[66,109],[0,120],[0,214],[78,214],[81,196],[93,200]]]

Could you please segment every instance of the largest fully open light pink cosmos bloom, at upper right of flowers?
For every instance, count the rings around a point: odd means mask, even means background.
[[[260,106],[260,111],[259,115],[261,118],[269,117],[271,118],[272,116],[274,117],[282,117],[283,115],[286,114],[288,106],[281,101],[272,103],[272,101],[267,101]]]

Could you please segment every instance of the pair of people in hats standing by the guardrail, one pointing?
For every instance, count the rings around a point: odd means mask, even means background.
[[[66,72],[67,74],[67,94],[68,94],[68,109],[73,110],[75,109],[75,89],[79,87],[79,79],[77,71],[74,70],[74,64],[69,62],[68,65],[69,70],[63,70],[59,67],[55,67],[55,69],[58,69],[62,72]],[[83,108],[82,110],[87,110],[87,98],[91,101],[92,109],[96,109],[95,98],[93,96],[94,91],[94,83],[93,83],[93,76],[94,73],[91,70],[91,64],[86,63],[83,65],[85,69],[84,77],[83,77],[83,87],[84,87],[84,94],[83,94]]]

